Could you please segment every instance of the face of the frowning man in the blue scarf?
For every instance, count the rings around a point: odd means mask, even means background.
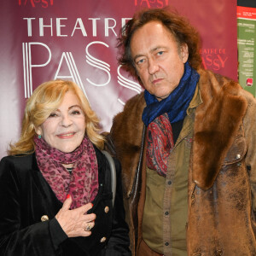
[[[189,52],[159,21],[150,21],[132,35],[131,57],[145,89],[161,101],[179,84]]]

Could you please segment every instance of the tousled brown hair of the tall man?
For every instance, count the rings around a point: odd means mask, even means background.
[[[172,33],[177,40],[178,46],[187,44],[189,48],[189,64],[198,69],[201,67],[201,39],[194,26],[189,24],[189,20],[178,15],[176,11],[169,7],[165,9],[144,9],[138,11],[122,27],[119,33],[117,48],[119,49],[119,64],[137,78],[137,72],[133,66],[131,58],[131,37],[138,28],[144,26],[149,21],[160,21]]]

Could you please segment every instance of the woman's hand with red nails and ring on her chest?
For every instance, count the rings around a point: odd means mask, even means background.
[[[92,204],[89,203],[83,207],[70,210],[71,203],[72,198],[69,196],[69,198],[64,201],[61,210],[56,214],[55,218],[68,237],[90,236],[90,230],[93,228],[94,220],[96,219],[96,214],[87,214]]]

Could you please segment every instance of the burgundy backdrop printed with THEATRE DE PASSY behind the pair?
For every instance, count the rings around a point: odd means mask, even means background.
[[[0,157],[20,136],[26,98],[50,79],[72,79],[109,131],[143,88],[117,65],[119,29],[137,9],[174,6],[198,28],[207,69],[237,79],[236,0],[13,0],[0,9]]]

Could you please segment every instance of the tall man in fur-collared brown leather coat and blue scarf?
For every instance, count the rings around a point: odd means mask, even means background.
[[[119,63],[143,84],[113,119],[133,255],[256,255],[256,102],[201,69],[199,36],[166,9],[134,15]]]

